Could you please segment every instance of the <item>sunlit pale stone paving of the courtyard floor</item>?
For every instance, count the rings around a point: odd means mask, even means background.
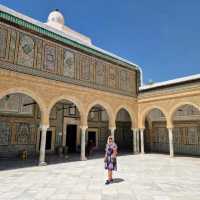
[[[200,158],[146,154],[118,157],[104,185],[103,158],[0,171],[2,200],[200,200]]]

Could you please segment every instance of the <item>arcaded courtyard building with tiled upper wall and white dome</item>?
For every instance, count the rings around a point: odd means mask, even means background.
[[[192,76],[142,85],[140,67],[97,48],[64,24],[0,6],[0,157],[60,147],[104,150],[111,134],[120,151],[200,154],[199,80]]]

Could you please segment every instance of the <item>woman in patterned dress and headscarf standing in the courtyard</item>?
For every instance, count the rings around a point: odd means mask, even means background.
[[[111,136],[108,137],[105,153],[105,169],[108,170],[108,180],[106,180],[106,185],[113,181],[112,171],[117,171],[117,145],[114,143]]]

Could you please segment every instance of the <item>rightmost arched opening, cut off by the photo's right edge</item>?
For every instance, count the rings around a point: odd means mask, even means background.
[[[179,106],[172,116],[175,154],[200,155],[200,111],[193,105]]]

